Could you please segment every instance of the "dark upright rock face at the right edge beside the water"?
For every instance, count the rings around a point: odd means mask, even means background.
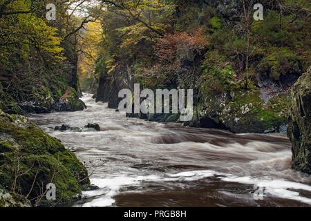
[[[288,137],[292,142],[292,169],[311,174],[311,67],[292,87]]]

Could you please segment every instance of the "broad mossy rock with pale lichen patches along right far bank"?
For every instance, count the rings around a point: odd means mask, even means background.
[[[207,93],[200,97],[199,119],[203,127],[225,128],[234,133],[270,133],[281,131],[281,126],[287,123],[287,98],[281,94],[267,104],[258,89]]]

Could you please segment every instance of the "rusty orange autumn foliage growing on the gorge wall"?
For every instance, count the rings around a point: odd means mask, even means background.
[[[164,35],[155,44],[154,51],[158,64],[144,68],[137,77],[144,79],[145,86],[164,86],[171,84],[180,73],[185,72],[182,61],[194,62],[197,55],[209,44],[202,29],[194,32],[174,32]]]

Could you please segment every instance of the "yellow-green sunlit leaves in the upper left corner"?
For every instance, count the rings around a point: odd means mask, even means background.
[[[62,38],[58,36],[57,28],[49,26],[44,17],[32,11],[34,6],[31,2],[12,1],[12,4],[6,6],[6,13],[16,14],[5,15],[0,19],[1,62],[8,63],[7,57],[17,52],[23,57],[40,52],[41,56],[54,56],[53,60],[62,59],[60,52],[64,49],[60,47]]]

